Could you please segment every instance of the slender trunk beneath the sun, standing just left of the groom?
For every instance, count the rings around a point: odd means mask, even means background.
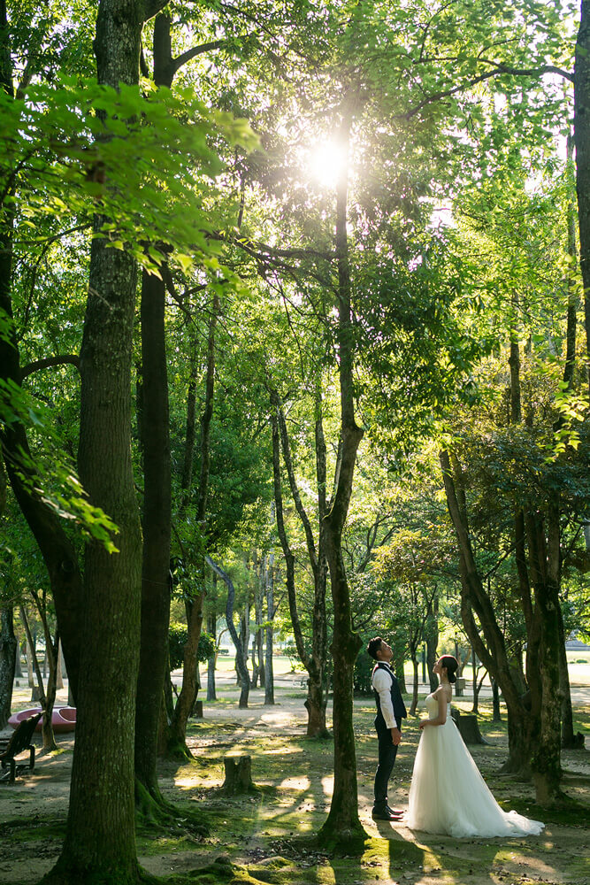
[[[351,117],[344,113],[342,141],[349,142]],[[348,165],[336,187],[336,253],[338,256],[338,330],[339,381],[341,393],[340,458],[336,469],[332,506],[324,519],[326,555],[334,613],[333,657],[333,735],[334,784],[327,820],[318,833],[323,844],[336,843],[357,850],[365,833],[358,819],[356,785],[356,750],[352,722],[353,671],[361,647],[353,633],[350,592],[342,557],[342,530],[349,512],[355,471],[356,452],[363,430],[356,425],[354,408],[354,342],[350,303],[349,243],[347,235]]]

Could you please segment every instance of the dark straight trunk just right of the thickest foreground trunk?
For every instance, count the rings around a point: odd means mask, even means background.
[[[135,776],[162,803],[157,735],[168,660],[172,493],[165,352],[165,284],[142,278],[142,622],[135,712]]]

